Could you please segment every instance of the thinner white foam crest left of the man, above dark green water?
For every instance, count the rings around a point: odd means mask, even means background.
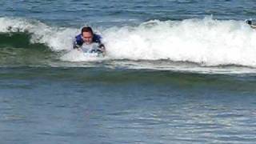
[[[31,43],[43,43],[53,51],[72,48],[72,38],[78,29],[50,27],[46,24],[24,18],[0,18],[0,32],[26,32],[31,34]]]

